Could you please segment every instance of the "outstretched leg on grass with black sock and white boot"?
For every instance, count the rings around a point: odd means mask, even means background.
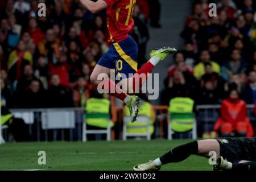
[[[145,164],[134,166],[135,171],[158,170],[160,166],[167,163],[177,163],[187,159],[191,155],[200,155],[209,158],[209,152],[216,151],[220,155],[220,144],[215,139],[198,140],[175,147],[160,158]]]

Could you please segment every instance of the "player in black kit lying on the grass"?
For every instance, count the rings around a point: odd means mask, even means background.
[[[155,171],[164,164],[181,162],[192,154],[210,158],[210,151],[217,154],[214,170],[256,170],[256,138],[220,138],[190,142],[148,163],[137,164],[133,169]]]

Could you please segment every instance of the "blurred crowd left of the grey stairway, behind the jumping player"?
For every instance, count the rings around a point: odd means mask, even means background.
[[[46,17],[38,4],[46,4]],[[151,11],[154,9],[155,11]],[[159,28],[160,3],[137,0],[133,38],[146,62],[148,25]],[[105,11],[91,14],[79,0],[0,2],[2,102],[9,108],[80,107],[95,88],[89,76],[109,49]]]

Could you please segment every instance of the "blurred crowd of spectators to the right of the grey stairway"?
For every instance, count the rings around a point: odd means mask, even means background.
[[[209,16],[209,3],[217,16]],[[188,96],[196,104],[220,104],[238,90],[246,104],[256,101],[256,3],[253,0],[194,1],[185,20],[183,48],[174,55],[162,105]]]

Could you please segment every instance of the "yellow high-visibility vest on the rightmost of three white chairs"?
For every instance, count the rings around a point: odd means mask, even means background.
[[[193,129],[195,115],[193,114],[194,101],[188,97],[172,98],[169,104],[169,114],[172,130],[185,132]]]

